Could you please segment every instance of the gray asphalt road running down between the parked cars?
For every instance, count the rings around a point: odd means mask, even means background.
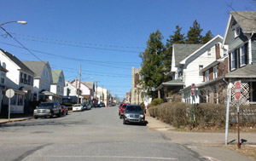
[[[140,124],[124,125],[118,107],[70,112],[0,127],[0,160],[203,160]]]

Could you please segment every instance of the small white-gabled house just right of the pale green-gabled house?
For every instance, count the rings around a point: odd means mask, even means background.
[[[80,92],[71,82],[65,81],[65,87],[64,87],[64,95],[62,97],[62,102],[63,103],[77,103],[78,102],[78,94],[81,94],[82,91]],[[83,98],[81,95],[79,95],[79,102],[83,101]]]

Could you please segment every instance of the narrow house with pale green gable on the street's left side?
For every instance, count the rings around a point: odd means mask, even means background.
[[[52,83],[50,84],[50,92],[44,95],[49,95],[52,101],[62,103],[62,96],[64,94],[65,77],[62,70],[51,70]]]

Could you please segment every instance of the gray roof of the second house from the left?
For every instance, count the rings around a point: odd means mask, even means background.
[[[36,77],[41,77],[44,70],[44,66],[49,66],[48,61],[22,61],[32,72],[36,74]]]

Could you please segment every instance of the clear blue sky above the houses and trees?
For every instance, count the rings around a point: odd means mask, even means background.
[[[140,52],[151,32],[166,38],[175,26],[197,20],[214,36],[224,36],[230,7],[247,10],[250,0],[1,0],[0,23],[26,20],[28,24],[3,26],[52,69],[62,69],[66,80],[100,81],[112,95],[131,90],[131,66],[140,67]],[[3,31],[0,32],[3,35]],[[12,38],[0,37],[0,48],[20,60],[38,60]],[[92,78],[92,79],[91,79]]]

